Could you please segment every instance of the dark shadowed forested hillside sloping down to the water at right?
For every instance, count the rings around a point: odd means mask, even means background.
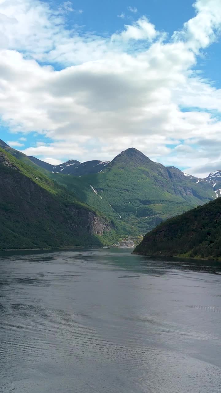
[[[221,258],[221,198],[163,222],[134,253]]]

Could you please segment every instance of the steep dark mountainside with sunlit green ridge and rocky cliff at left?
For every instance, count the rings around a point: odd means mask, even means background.
[[[109,219],[1,148],[0,184],[0,249],[113,241]]]

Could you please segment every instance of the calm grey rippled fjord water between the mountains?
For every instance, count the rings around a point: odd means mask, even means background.
[[[218,393],[221,264],[0,254],[2,393]]]

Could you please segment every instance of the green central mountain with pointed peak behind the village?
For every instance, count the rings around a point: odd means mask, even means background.
[[[132,148],[100,173],[49,176],[89,206],[121,222],[125,233],[146,233],[162,220],[214,199],[212,185],[155,163]]]

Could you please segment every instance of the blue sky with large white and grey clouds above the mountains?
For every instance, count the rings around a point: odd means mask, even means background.
[[[221,169],[220,0],[0,0],[0,138],[51,163],[136,147]]]

